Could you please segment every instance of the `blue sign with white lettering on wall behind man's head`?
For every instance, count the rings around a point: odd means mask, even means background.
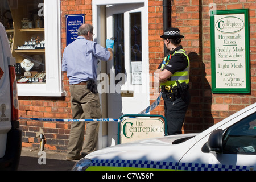
[[[66,15],[66,42],[72,43],[77,39],[77,31],[85,22],[85,14]]]

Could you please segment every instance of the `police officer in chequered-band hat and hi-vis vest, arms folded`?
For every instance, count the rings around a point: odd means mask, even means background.
[[[164,100],[164,114],[168,135],[181,134],[185,114],[190,102],[189,58],[183,47],[178,28],[167,28],[160,36],[168,49],[167,56],[155,71]]]

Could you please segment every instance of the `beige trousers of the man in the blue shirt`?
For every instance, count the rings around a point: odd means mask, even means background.
[[[71,85],[70,93],[73,119],[101,118],[98,94],[90,92],[86,85]],[[86,155],[96,150],[98,126],[98,122],[94,121],[72,122],[67,151],[69,158],[79,154]]]

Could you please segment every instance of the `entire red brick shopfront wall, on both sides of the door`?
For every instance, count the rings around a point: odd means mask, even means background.
[[[250,94],[212,94],[210,68],[210,17],[209,3],[213,1],[174,0],[172,1],[172,27],[179,27],[185,36],[182,45],[191,59],[191,95],[192,101],[185,119],[184,133],[207,129],[214,123],[253,104],[256,101],[256,15],[255,0],[218,0],[214,1],[217,10],[250,8]],[[61,43],[65,48],[65,15],[85,15],[85,22],[92,23],[92,0],[61,0]],[[162,1],[148,0],[149,17],[149,61],[152,74],[161,63],[163,53],[163,7]],[[153,79],[153,77],[152,77]],[[67,75],[63,78],[67,97],[19,97],[20,117],[71,119],[70,93]],[[154,86],[154,85],[153,85]],[[157,94],[151,92],[151,103]],[[163,101],[151,114],[164,115]],[[46,137],[46,146],[50,150],[66,151],[69,139],[70,123],[21,121],[23,146],[39,147],[39,134]]]

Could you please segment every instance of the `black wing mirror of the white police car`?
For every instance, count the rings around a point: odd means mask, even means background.
[[[222,129],[214,130],[210,134],[207,146],[210,151],[222,153]]]

